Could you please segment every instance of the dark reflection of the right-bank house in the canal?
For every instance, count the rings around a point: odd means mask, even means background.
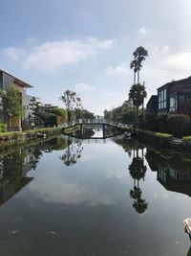
[[[157,179],[165,189],[191,197],[190,155],[147,149],[146,159],[151,170],[157,172]]]

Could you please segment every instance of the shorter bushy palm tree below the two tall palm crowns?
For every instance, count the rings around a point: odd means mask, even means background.
[[[129,99],[132,100],[133,105],[136,106],[136,124],[138,125],[138,107],[143,104],[144,98],[147,93],[145,86],[137,83],[131,86],[129,91]]]

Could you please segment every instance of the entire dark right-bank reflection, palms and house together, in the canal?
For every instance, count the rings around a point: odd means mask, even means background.
[[[191,197],[191,155],[176,151],[155,150],[136,141],[115,139],[115,142],[122,146],[123,150],[132,158],[128,170],[134,179],[134,188],[130,190],[130,197],[134,198],[133,207],[138,213],[143,213],[148,208],[148,203],[142,198],[142,191],[139,185],[140,180],[144,181],[147,171],[146,160],[151,171],[157,172],[157,180],[168,191],[185,194]]]

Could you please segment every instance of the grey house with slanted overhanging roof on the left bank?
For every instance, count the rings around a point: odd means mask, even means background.
[[[22,96],[22,105],[24,109],[24,117],[27,116],[26,109],[29,110],[30,101],[32,96],[27,95],[27,88],[32,88],[32,85],[26,81],[22,81],[10,73],[0,69],[0,89],[8,92],[10,89],[10,84],[21,93]],[[0,103],[0,123],[7,123],[9,129],[20,129],[21,128],[21,119],[10,117],[9,120],[4,115],[4,109]]]

